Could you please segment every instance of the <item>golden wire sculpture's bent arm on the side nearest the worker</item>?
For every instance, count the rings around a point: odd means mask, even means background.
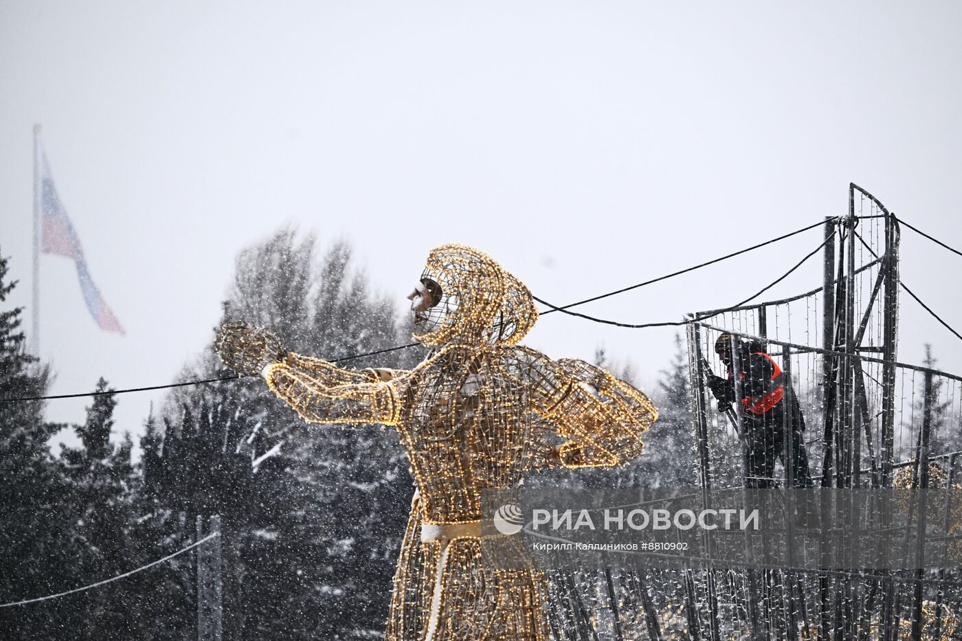
[[[567,439],[558,459],[569,468],[612,467],[641,455],[642,433],[658,412],[642,392],[604,370],[579,360],[551,361],[534,350],[526,372],[534,410]]]

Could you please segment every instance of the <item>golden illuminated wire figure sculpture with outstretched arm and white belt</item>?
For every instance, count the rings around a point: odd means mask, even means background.
[[[240,322],[221,328],[216,348],[234,370],[262,374],[310,423],[398,431],[417,492],[389,641],[546,639],[544,575],[482,562],[484,539],[506,535],[482,513],[481,494],[516,488],[531,470],[631,461],[655,409],[608,372],[518,346],[538,319],[531,294],[480,251],[433,249],[409,298],[414,338],[432,348],[410,371],[344,370],[287,353]]]

